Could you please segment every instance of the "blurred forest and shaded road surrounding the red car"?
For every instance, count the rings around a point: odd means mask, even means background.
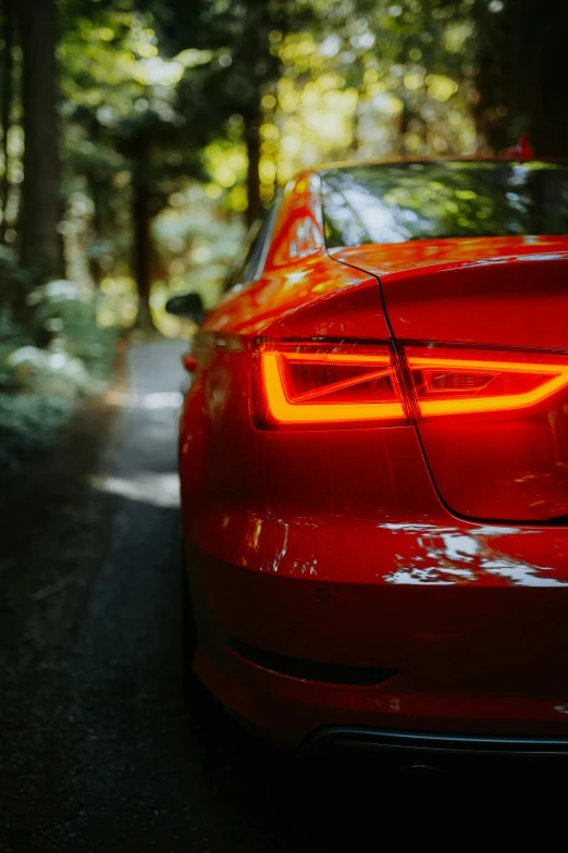
[[[567,44],[567,0],[0,0],[2,853],[344,853],[454,821],[459,846],[499,817],[510,846],[564,816],[564,768],[312,772],[184,700],[195,326],[164,306],[213,306],[304,168],[524,134],[568,157]]]

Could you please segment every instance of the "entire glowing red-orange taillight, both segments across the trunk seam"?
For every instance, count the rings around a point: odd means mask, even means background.
[[[399,423],[412,410],[422,418],[513,411],[568,386],[567,357],[408,346],[405,358],[410,383],[398,381],[385,345],[263,343],[257,422],[356,426]]]

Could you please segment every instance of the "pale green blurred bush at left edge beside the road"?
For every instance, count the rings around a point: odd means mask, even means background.
[[[17,470],[20,452],[52,443],[82,397],[103,390],[116,331],[97,326],[95,297],[73,282],[29,289],[12,252],[3,249],[0,281],[0,466],[5,472]]]

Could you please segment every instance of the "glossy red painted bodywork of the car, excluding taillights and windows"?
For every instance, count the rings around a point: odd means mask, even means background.
[[[262,276],[225,296],[194,343],[180,473],[196,672],[291,746],[325,726],[568,737],[568,528],[550,523],[568,508],[568,397],[428,418],[407,360],[424,343],[446,345],[429,348],[441,357],[561,360],[568,239],[330,256],[319,211],[319,176],[301,175]],[[405,418],[256,422],[259,338],[388,347]],[[396,675],[374,687],[291,677],[234,640]]]

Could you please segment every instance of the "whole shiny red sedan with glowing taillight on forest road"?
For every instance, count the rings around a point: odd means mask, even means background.
[[[194,670],[255,729],[568,753],[567,234],[568,164],[510,158],[306,172],[254,224],[180,475]]]

